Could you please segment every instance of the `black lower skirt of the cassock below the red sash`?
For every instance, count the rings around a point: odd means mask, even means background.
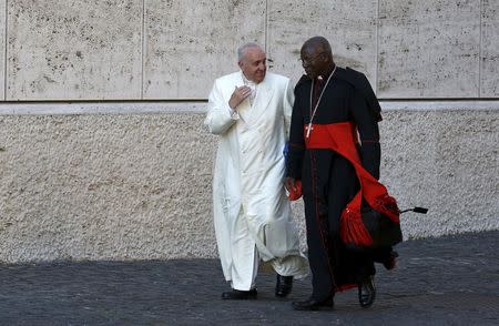
[[[312,298],[325,299],[374,275],[371,253],[348,251],[339,237],[339,218],[359,190],[355,169],[330,151],[305,154],[303,173]]]

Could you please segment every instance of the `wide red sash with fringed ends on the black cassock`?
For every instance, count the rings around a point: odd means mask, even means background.
[[[304,134],[306,134],[305,126]],[[356,142],[357,130],[352,122],[313,124],[310,136],[305,137],[307,149],[333,150],[354,165],[360,190],[342,213],[339,234],[345,243],[368,247],[373,244],[373,238],[361,218],[363,198],[373,210],[388,216],[397,224],[400,223],[399,210],[397,202],[388,194],[386,187],[361,165]]]

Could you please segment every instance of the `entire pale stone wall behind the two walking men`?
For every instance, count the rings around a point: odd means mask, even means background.
[[[499,2],[0,0],[0,262],[216,255],[213,80],[329,39],[384,100],[407,238],[499,228]],[[302,245],[303,210],[295,204]]]

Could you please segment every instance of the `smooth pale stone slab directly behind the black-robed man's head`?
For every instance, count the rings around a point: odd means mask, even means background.
[[[359,69],[376,86],[377,0],[268,1],[267,54],[275,71],[297,81],[299,49],[322,34],[340,65]]]

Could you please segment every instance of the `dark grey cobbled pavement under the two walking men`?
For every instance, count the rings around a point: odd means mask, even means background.
[[[0,266],[1,325],[499,325],[499,231],[406,241],[397,267],[378,266],[375,304],[356,289],[332,312],[295,312],[310,279],[274,297],[261,273],[258,299],[220,299],[228,287],[215,259],[63,262]]]

